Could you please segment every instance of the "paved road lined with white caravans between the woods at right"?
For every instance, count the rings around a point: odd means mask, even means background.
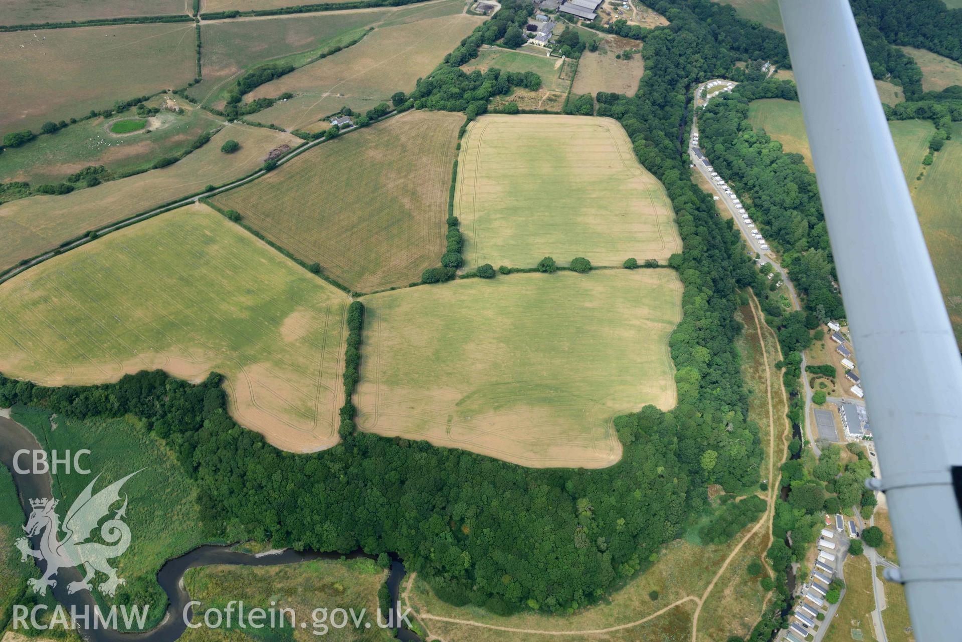
[[[715,79],[715,80],[721,80],[723,85],[712,87],[709,90],[709,93],[706,95],[704,100],[701,99],[701,91],[702,89],[706,88],[708,83],[713,81],[707,81],[697,86],[695,90],[696,108],[706,105],[709,101],[711,101],[712,98],[722,93],[725,87],[737,85],[737,83],[734,83],[732,81],[726,81],[723,79]],[[692,136],[694,137],[697,134],[698,134],[698,119],[696,114],[694,118],[694,122],[692,124]],[[781,263],[778,262],[777,256],[772,252],[771,249],[765,250],[765,251],[762,250],[762,247],[761,247],[762,244],[758,241],[758,239],[756,239],[754,236],[751,235],[751,227],[748,226],[745,223],[745,221],[742,220],[742,215],[739,213],[738,209],[735,207],[735,204],[731,202],[731,199],[728,198],[728,196],[724,193],[721,187],[719,187],[718,185],[715,185],[715,182],[712,179],[711,171],[706,169],[706,167],[711,166],[711,162],[705,157],[705,155],[701,152],[701,150],[698,147],[692,144],[691,140],[689,141],[688,154],[692,160],[692,163],[697,168],[697,170],[701,172],[701,175],[705,177],[705,180],[708,181],[708,183],[713,186],[715,195],[719,197],[718,202],[722,205],[723,208],[727,208],[728,213],[731,214],[731,217],[735,220],[735,225],[742,232],[742,235],[745,237],[745,240],[751,252],[755,255],[761,256],[763,259],[771,263],[772,269],[774,269],[774,271],[778,274],[778,276],[781,277],[782,284],[784,284],[783,287],[787,290],[789,300],[792,303],[792,309],[801,309],[801,301],[798,298],[798,294],[795,290],[795,285],[792,284],[792,281],[788,278],[788,271],[781,266]],[[808,439],[811,445],[812,451],[815,453],[816,457],[819,457],[822,455],[822,451],[815,444],[815,440],[818,437],[818,434],[814,432],[815,427],[813,426],[813,422],[811,421],[812,389],[808,385],[808,377],[804,376],[805,366],[807,365],[808,365],[808,358],[806,358],[805,354],[802,353],[801,381],[802,381],[802,386],[804,388],[804,395],[805,395],[805,414],[804,414],[804,421],[802,422],[803,431],[804,431],[803,436],[806,439]]]

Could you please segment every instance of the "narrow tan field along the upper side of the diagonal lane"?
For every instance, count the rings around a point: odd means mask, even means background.
[[[223,154],[225,140],[241,150]],[[210,142],[163,169],[111,181],[63,196],[31,196],[0,206],[0,269],[56,248],[63,241],[114,221],[157,208],[202,190],[239,179],[264,163],[270,150],[294,146],[300,138],[247,125],[228,125]]]

